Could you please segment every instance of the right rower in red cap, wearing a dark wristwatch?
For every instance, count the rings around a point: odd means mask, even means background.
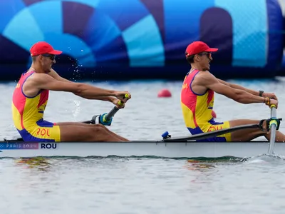
[[[212,53],[218,49],[209,48],[202,41],[194,41],[187,46],[185,51],[187,62],[191,69],[186,74],[181,90],[181,107],[185,120],[185,126],[192,135],[217,131],[224,128],[257,124],[257,120],[239,119],[233,121],[214,121],[212,109],[214,107],[214,93],[219,93],[239,103],[264,103],[266,106],[276,106],[278,99],[274,93],[254,91],[237,84],[227,83],[216,78],[209,72],[210,63],[213,60]],[[264,122],[265,126],[265,122]],[[225,133],[197,141],[241,141],[248,142],[259,136],[265,136],[269,140],[270,131],[262,131],[260,128],[248,128],[233,133]],[[276,131],[276,141],[284,142],[285,135]]]

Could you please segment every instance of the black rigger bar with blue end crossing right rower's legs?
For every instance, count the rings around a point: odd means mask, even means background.
[[[199,133],[197,135],[192,135],[192,136],[187,136],[187,137],[182,137],[182,138],[167,138],[168,132],[165,132],[162,134],[162,138],[163,138],[162,141],[171,142],[171,141],[201,140],[201,139],[205,139],[205,138],[212,138],[215,136],[220,136],[220,135],[223,135],[225,133],[230,133],[230,132],[242,130],[245,128],[260,128],[260,126],[259,126],[259,124],[234,126],[232,128],[224,128],[224,129],[217,130],[217,131],[209,131],[206,133]]]

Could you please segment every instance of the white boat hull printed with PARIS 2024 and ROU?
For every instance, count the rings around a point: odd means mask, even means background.
[[[0,143],[0,158],[54,156],[157,156],[167,158],[245,158],[267,153],[269,142],[209,143],[132,141],[128,143]],[[275,143],[274,152],[285,156],[285,144]]]

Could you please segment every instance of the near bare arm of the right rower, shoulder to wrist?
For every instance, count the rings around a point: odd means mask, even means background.
[[[221,83],[208,71],[201,72],[199,76],[196,76],[196,83],[200,86],[209,88],[216,93],[232,98],[239,103],[264,103],[265,101],[265,98],[263,97],[255,96],[242,89],[232,88],[227,84]]]

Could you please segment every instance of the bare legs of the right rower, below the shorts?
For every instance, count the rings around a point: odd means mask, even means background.
[[[229,126],[242,126],[242,125],[249,125],[249,124],[257,124],[259,121],[256,120],[247,120],[247,119],[241,119],[241,120],[234,120],[229,121]],[[263,124],[264,130],[266,130],[266,124],[264,121]],[[259,136],[264,136],[267,140],[270,139],[271,133],[261,131],[259,128],[247,128],[244,130],[234,131],[232,132],[232,141],[241,141],[241,142],[248,142],[252,141],[254,138],[257,138]],[[284,142],[285,141],[285,135],[281,133],[280,131],[276,131],[276,142]]]

